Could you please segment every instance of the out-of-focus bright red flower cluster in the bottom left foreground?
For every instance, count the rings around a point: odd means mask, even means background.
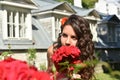
[[[50,75],[9,57],[0,61],[0,80],[50,80]]]

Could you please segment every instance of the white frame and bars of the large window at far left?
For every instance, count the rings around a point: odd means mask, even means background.
[[[9,19],[8,12],[14,12],[13,19],[15,20],[15,22],[13,22],[12,18],[11,18],[11,23],[10,23],[10,21],[8,22],[8,19]],[[24,20],[21,21],[21,24],[19,23],[19,14],[20,13],[25,14],[25,16],[23,16]],[[11,15],[12,15],[11,17],[13,17],[12,13],[11,13]],[[13,30],[13,27],[11,27],[11,29],[13,31],[11,31],[11,33],[10,33],[8,31],[8,24],[11,26],[14,25],[15,31]],[[24,26],[21,31],[22,36],[19,35],[20,34],[19,27],[20,26]],[[4,9],[3,16],[2,16],[2,30],[3,30],[3,40],[32,40],[32,15],[31,15],[30,11],[22,10],[22,9],[16,9],[14,11],[12,9]],[[14,35],[13,35],[13,32],[14,32]],[[8,33],[9,33],[9,36],[8,36]]]

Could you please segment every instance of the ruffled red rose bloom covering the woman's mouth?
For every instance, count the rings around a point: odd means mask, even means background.
[[[67,57],[70,57],[71,59],[77,58],[80,54],[80,50],[75,46],[62,46],[52,55],[52,60],[53,62],[58,63]]]

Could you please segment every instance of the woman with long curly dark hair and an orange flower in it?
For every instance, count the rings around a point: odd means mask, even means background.
[[[69,18],[65,18],[62,22],[61,33],[57,42],[48,48],[48,71],[52,72],[52,54],[63,45],[77,46],[82,53],[80,56],[82,61],[94,60],[94,43],[92,42],[92,37],[89,23],[86,19],[78,15],[71,15]],[[82,80],[89,80],[93,72],[94,65],[82,69],[79,75]]]

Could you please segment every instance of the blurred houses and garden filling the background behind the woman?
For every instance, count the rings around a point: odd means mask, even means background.
[[[12,51],[12,57],[45,70],[60,19],[72,14],[89,21],[99,59],[96,79],[119,80],[120,0],[0,0],[1,54]]]

